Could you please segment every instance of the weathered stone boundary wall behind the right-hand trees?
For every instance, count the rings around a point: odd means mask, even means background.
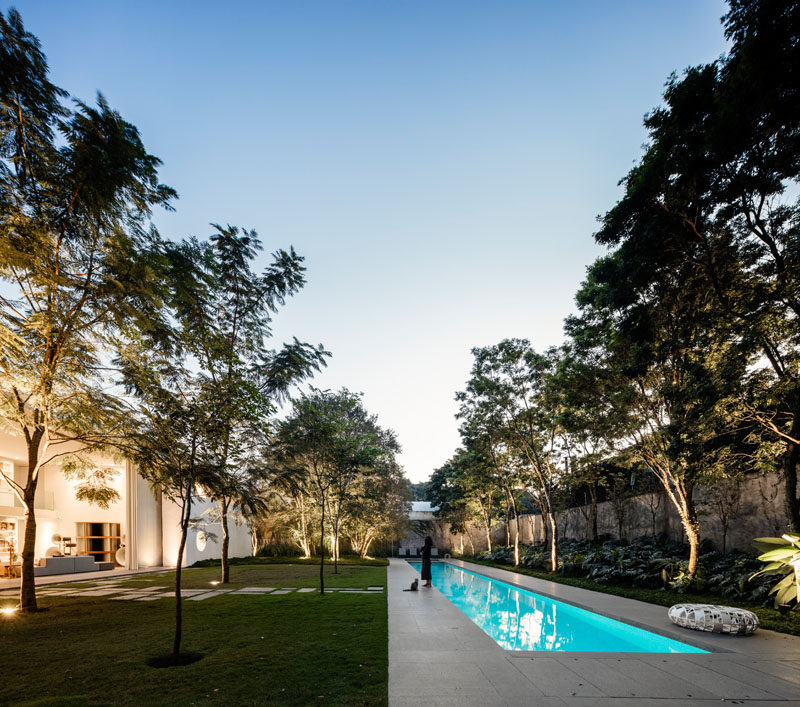
[[[729,483],[729,482],[726,482]],[[745,477],[738,488],[738,498],[733,485],[720,486],[733,492],[728,495],[730,516],[726,535],[726,550],[753,550],[753,538],[778,536],[787,531],[783,513],[783,480],[777,474]],[[700,513],[700,538],[708,538],[718,549],[723,546],[723,523],[715,494],[708,488],[695,491],[695,501]],[[683,528],[672,503],[663,493],[649,493],[632,497],[625,507],[622,536],[632,540],[640,535],[665,533],[670,539],[685,540]],[[591,537],[589,506],[570,508],[557,514],[559,538],[588,539]],[[544,529],[540,515],[521,515],[519,518],[520,542],[526,545],[542,542]],[[597,531],[599,534],[618,536],[614,506],[610,501],[597,504]],[[447,523],[434,521],[431,528],[434,544],[442,551],[472,553],[486,549],[486,533],[481,527],[470,526],[467,534],[453,533]],[[470,542],[471,541],[471,542]],[[512,523],[513,542],[513,523]],[[506,544],[505,524],[492,530],[492,543]]]

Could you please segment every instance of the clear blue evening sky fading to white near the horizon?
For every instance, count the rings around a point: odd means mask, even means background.
[[[470,350],[537,349],[673,71],[725,51],[716,0],[25,0],[51,80],[101,91],[180,194],[162,235],[255,229],[306,258],[274,342],[332,352],[412,481],[459,444]]]

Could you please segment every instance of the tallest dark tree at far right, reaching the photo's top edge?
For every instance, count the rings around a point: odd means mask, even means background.
[[[687,265],[721,326],[757,355],[733,407],[784,445],[789,527],[800,530],[800,6],[730,0],[730,51],[673,75],[645,119],[650,142],[599,242],[644,293]]]

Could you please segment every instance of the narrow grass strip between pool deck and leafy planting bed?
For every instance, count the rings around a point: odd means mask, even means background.
[[[476,565],[497,567],[497,569],[527,574],[531,577],[549,580],[550,582],[568,584],[571,587],[580,587],[581,589],[591,589],[592,591],[603,592],[604,594],[614,594],[620,597],[627,597],[628,599],[638,599],[639,601],[659,604],[660,606],[672,606],[673,604],[683,603],[736,606],[740,609],[749,609],[756,614],[761,622],[762,628],[769,629],[770,631],[778,631],[780,633],[789,633],[793,636],[800,636],[800,611],[790,611],[786,614],[781,614],[777,609],[766,608],[755,602],[739,601],[737,599],[721,597],[716,594],[690,594],[688,592],[686,594],[679,594],[678,592],[669,591],[667,589],[618,587],[609,584],[597,584],[597,582],[593,582],[591,579],[562,577],[557,574],[554,575],[549,572],[531,570],[524,567],[514,569],[510,565],[504,565],[499,562],[476,560],[469,557],[463,559],[465,562],[474,562]]]

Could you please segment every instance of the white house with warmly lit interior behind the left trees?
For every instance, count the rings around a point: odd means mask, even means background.
[[[36,564],[48,556],[64,554],[90,555],[97,562],[126,569],[174,567],[180,543],[180,508],[160,493],[153,493],[130,463],[98,457],[98,464],[117,472],[111,485],[119,500],[108,508],[77,500],[76,482],[64,476],[58,460],[41,469],[35,503]],[[27,453],[22,437],[0,431],[0,465],[6,475],[24,483]],[[202,521],[207,517],[203,511],[213,505],[197,499],[192,516]],[[249,555],[249,528],[231,521],[229,530],[229,555]],[[21,552],[24,533],[22,505],[0,478],[0,574],[8,571],[13,555]],[[221,542],[219,523],[208,517],[207,522],[190,528],[184,563],[218,558]]]

